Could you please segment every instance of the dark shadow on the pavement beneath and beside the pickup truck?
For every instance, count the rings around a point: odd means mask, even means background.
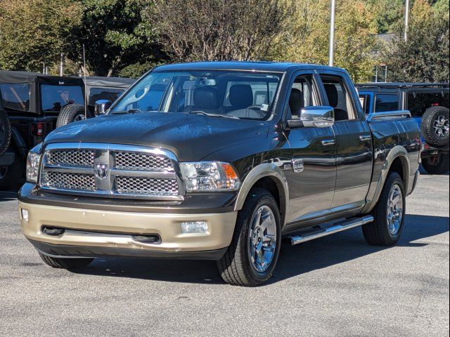
[[[449,231],[449,218],[406,216],[406,226],[398,246],[414,249],[426,246],[416,240]],[[270,283],[345,263],[389,247],[369,246],[360,228],[340,232],[298,246],[283,245],[281,258]],[[152,260],[132,258],[98,258],[77,273],[110,277],[153,279],[165,282],[223,284],[214,261]]]

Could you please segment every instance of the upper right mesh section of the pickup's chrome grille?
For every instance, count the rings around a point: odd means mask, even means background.
[[[115,152],[115,167],[122,170],[174,171],[169,158],[136,152]]]

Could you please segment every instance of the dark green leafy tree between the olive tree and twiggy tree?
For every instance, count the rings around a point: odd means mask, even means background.
[[[113,76],[130,65],[151,65],[165,58],[155,40],[153,22],[143,18],[143,11],[152,11],[152,1],[79,1],[83,7],[82,20],[72,30],[75,43],[70,58],[81,65],[84,44],[89,74]],[[131,67],[127,74],[139,76],[133,69],[139,67]]]

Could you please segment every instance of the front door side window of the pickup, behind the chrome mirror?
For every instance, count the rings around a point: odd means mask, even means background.
[[[304,107],[318,105],[316,91],[310,75],[297,77],[290,91],[288,119],[299,119]]]

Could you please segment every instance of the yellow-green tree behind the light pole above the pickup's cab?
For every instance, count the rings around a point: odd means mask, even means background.
[[[330,36],[329,0],[285,0],[290,8],[284,29],[271,48],[278,61],[328,64]],[[360,0],[338,1],[335,17],[335,65],[345,68],[354,81],[373,74],[376,24],[373,11]]]

